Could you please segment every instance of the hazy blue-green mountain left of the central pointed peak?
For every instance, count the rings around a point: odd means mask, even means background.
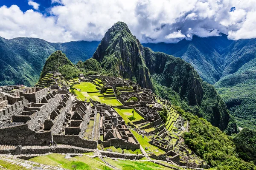
[[[76,63],[90,58],[99,42],[50,43],[38,38],[0,37],[0,85],[24,84],[33,86],[38,81],[44,63],[56,50],[61,50]]]

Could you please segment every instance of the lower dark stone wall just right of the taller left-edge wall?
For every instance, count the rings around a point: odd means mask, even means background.
[[[98,145],[98,141],[85,140],[76,135],[53,135],[53,141],[58,144],[69,144],[90,149],[96,149]]]

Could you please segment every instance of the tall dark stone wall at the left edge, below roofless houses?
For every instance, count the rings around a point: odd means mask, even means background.
[[[0,128],[0,144],[45,145],[51,140],[51,132],[36,133],[27,124]]]

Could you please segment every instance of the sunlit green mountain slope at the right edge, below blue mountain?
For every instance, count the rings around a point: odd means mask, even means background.
[[[256,129],[256,59],[250,60],[234,74],[220,79],[215,87],[230,113],[241,127]]]

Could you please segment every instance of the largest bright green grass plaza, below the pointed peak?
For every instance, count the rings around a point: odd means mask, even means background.
[[[103,94],[99,93],[99,90],[96,89],[96,85],[91,82],[81,82],[73,86],[80,91],[75,90],[77,98],[84,101],[85,99],[89,100],[90,98],[101,103],[105,103],[111,106],[122,106],[122,104],[116,100],[115,97],[104,97]]]

